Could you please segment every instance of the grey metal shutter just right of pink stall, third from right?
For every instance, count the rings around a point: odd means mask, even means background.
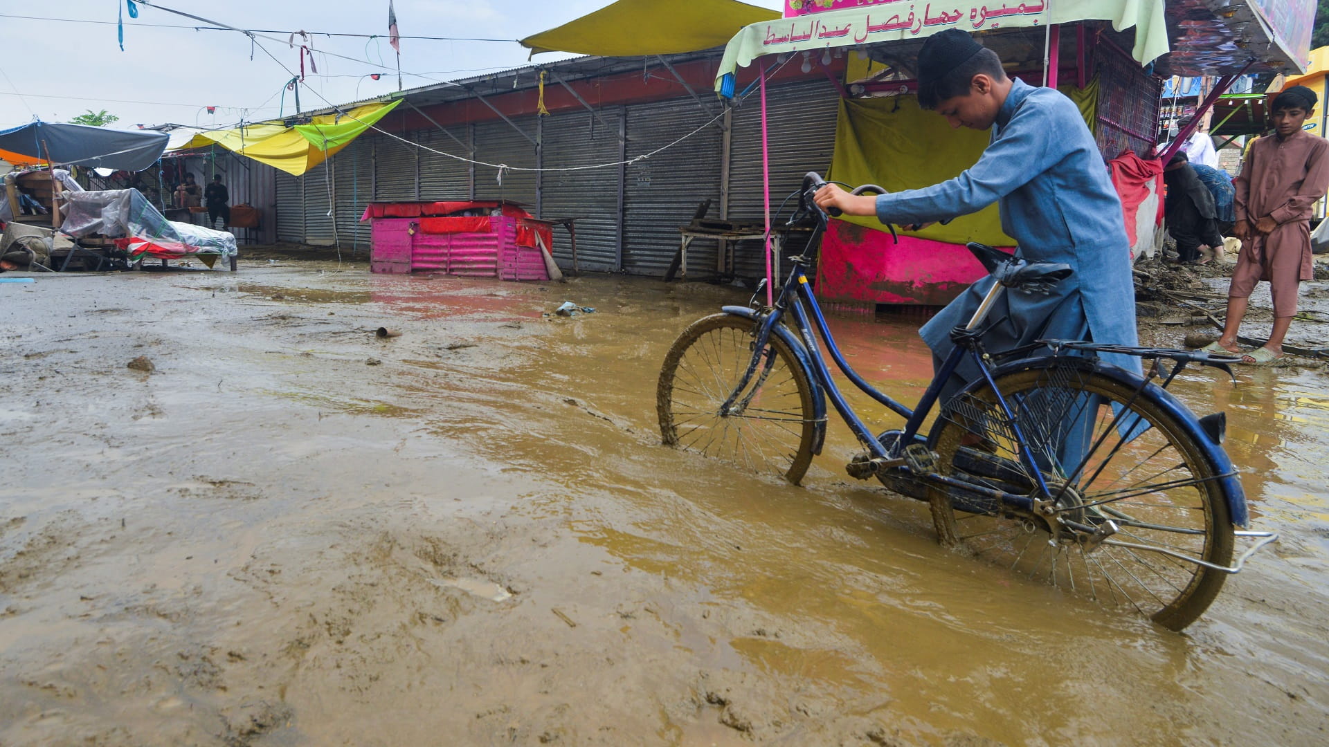
[[[590,112],[548,117],[544,122],[545,169],[590,166],[618,161],[619,110],[601,112],[609,126]],[[610,272],[618,270],[618,166],[579,171],[545,171],[542,218],[577,221],[577,267]],[[554,229],[554,259],[573,266],[567,231]]]

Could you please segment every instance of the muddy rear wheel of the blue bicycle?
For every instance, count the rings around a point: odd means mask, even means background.
[[[1201,444],[1160,407],[1171,395],[1152,385],[1136,393],[1092,368],[1061,359],[1001,376],[1014,420],[990,387],[946,403],[932,437],[938,473],[1037,496],[1037,469],[1055,498],[1041,516],[932,488],[937,533],[979,558],[1181,630],[1227,578],[1184,558],[1231,562],[1228,504]],[[1106,536],[1107,521],[1115,534]]]

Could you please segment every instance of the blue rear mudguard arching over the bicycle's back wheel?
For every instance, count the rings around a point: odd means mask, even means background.
[[[1249,513],[1247,512],[1245,489],[1241,488],[1241,480],[1237,477],[1236,469],[1232,467],[1232,460],[1228,457],[1228,452],[1224,451],[1221,445],[1211,441],[1208,433],[1205,433],[1200,427],[1200,420],[1195,416],[1195,412],[1192,412],[1185,403],[1172,396],[1163,387],[1159,387],[1154,381],[1146,381],[1143,376],[1135,374],[1134,371],[1127,371],[1126,368],[1112,366],[1111,363],[1103,363],[1096,358],[1082,356],[1046,355],[1013,360],[993,370],[993,379],[1014,374],[1017,371],[1050,368],[1053,364],[1066,366],[1067,363],[1071,363],[1083,371],[1115,379],[1119,384],[1131,387],[1132,389],[1139,388],[1140,383],[1144,381],[1144,395],[1152,397],[1160,409],[1176,419],[1177,424],[1181,425],[1181,429],[1185,431],[1185,435],[1191,436],[1191,439],[1200,445],[1200,451],[1203,452],[1204,459],[1208,460],[1209,467],[1213,468],[1215,475],[1224,476],[1219,477],[1217,482],[1223,489],[1224,500],[1227,500],[1228,513],[1232,514],[1232,524],[1241,528],[1247,526]],[[964,391],[970,392],[986,384],[987,381],[979,379],[977,381],[971,381],[964,388]]]

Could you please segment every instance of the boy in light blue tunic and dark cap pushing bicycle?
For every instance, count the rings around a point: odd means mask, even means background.
[[[929,37],[918,53],[918,104],[952,128],[990,129],[991,142],[978,162],[953,179],[893,194],[852,195],[828,185],[817,191],[817,205],[910,225],[997,202],[1002,230],[1015,239],[1019,257],[1062,262],[1074,274],[1047,295],[1003,294],[989,315],[997,322],[983,336],[987,350],[1045,338],[1138,344],[1122,203],[1075,104],[1051,88],[1006,77],[997,53],[958,29]],[[978,280],[920,330],[936,366],[954,347],[950,330],[969,320],[994,282]],[[1100,358],[1140,371],[1138,358]],[[942,401],[978,375],[965,362],[942,389]]]

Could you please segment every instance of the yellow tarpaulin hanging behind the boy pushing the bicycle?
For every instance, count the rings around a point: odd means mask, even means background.
[[[1075,101],[1092,126],[1096,81],[1084,90],[1066,86],[1061,92]],[[889,191],[921,189],[958,177],[978,161],[987,141],[987,130],[953,130],[940,114],[921,109],[913,96],[841,98],[831,177],[851,185],[876,183]],[[876,218],[844,215],[841,219],[881,229]],[[997,205],[912,235],[948,243],[1015,243],[1001,230]]]

